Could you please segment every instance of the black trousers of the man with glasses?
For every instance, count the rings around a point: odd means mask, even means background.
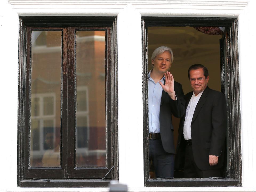
[[[185,178],[221,177],[221,170],[220,169],[213,169],[213,170],[199,169],[194,161],[192,145],[186,144],[184,176]]]

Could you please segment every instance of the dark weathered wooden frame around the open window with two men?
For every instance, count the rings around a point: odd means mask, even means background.
[[[241,118],[238,62],[237,18],[210,17],[142,17],[142,86],[144,126],[144,186],[145,187],[225,187],[242,186]],[[148,129],[148,51],[147,27],[209,26],[226,27],[220,40],[221,90],[227,101],[227,162],[225,178],[210,179],[149,179]]]

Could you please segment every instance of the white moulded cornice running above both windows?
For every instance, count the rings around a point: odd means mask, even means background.
[[[248,1],[245,0],[9,0],[9,3],[21,16],[116,16],[129,5],[137,9],[143,16],[195,15],[235,17],[245,10],[248,5]],[[221,14],[218,10],[222,10]]]

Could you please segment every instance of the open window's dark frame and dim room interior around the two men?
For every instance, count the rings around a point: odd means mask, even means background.
[[[193,27],[223,27],[223,35],[210,40],[200,35]],[[143,17],[143,110],[144,110],[144,185],[181,187],[181,186],[241,186],[241,137],[240,137],[240,99],[238,36],[236,18],[186,18],[186,17]],[[171,37],[168,37],[171,36]],[[180,38],[181,37],[181,38]],[[179,40],[183,40],[180,41]],[[209,39],[209,38],[208,38]],[[220,40],[219,40],[220,39]],[[174,42],[175,41],[175,42]],[[195,42],[202,41],[202,42]],[[209,41],[208,43],[206,41]],[[211,43],[213,42],[213,43]],[[201,44],[200,44],[201,43]],[[204,44],[205,43],[205,44]],[[183,45],[182,45],[183,44]],[[206,47],[212,46],[208,48]],[[191,91],[187,79],[190,65],[201,63],[209,69],[210,88],[225,94],[227,102],[226,161],[221,178],[184,179],[176,175],[172,179],[154,178],[149,160],[148,125],[148,72],[151,69],[151,54],[159,46],[169,46],[174,52],[171,71],[174,79],[182,84],[184,93]],[[175,47],[176,46],[176,47]],[[197,46],[197,52],[193,49]],[[175,48],[173,48],[175,47]],[[201,49],[201,51],[200,51]],[[176,53],[175,53],[176,50]],[[206,52],[206,54],[202,54]],[[201,54],[200,54],[201,52]],[[206,56],[208,54],[208,56]],[[217,59],[216,59],[217,56]],[[187,60],[186,58],[187,57]],[[196,58],[200,58],[198,60]],[[176,61],[175,61],[176,60]],[[208,62],[207,62],[208,61]],[[176,63],[175,63],[176,62]],[[188,63],[189,62],[189,63]],[[177,64],[178,63],[178,64]],[[213,66],[213,63],[215,65]],[[209,66],[208,66],[209,65]],[[212,81],[212,82],[211,82]],[[213,81],[215,83],[213,83]],[[216,83],[217,82],[217,83]],[[179,119],[173,117],[174,141],[177,143]],[[176,131],[176,133],[175,133]],[[176,139],[176,140],[175,140]],[[174,143],[176,145],[176,143]]]

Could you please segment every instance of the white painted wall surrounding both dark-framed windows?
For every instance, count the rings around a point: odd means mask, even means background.
[[[11,5],[10,5],[11,4]],[[117,16],[119,180],[129,191],[256,191],[254,0],[1,0],[0,192],[107,191],[107,188],[17,187],[18,16]],[[141,16],[238,17],[241,84],[242,187],[143,187]],[[127,38],[129,37],[129,38]],[[131,72],[133,74],[131,75]],[[135,94],[132,94],[135,93]],[[136,108],[136,110],[134,110]],[[130,126],[129,122],[133,122]],[[131,142],[126,136],[133,132]]]

